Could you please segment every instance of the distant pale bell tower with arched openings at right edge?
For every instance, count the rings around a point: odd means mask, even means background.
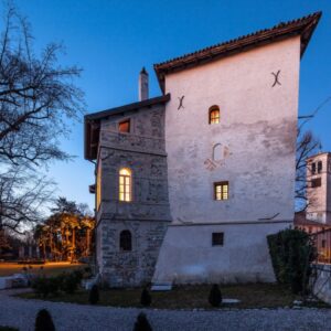
[[[322,152],[307,159],[306,217],[331,224],[331,153]]]

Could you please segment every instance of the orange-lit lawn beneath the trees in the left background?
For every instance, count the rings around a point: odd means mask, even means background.
[[[32,268],[30,268],[30,266]],[[77,268],[82,268],[83,264],[70,264],[70,263],[46,263],[44,265],[19,265],[15,263],[0,263],[0,277],[10,276],[13,274],[22,273],[23,267],[26,267],[31,274],[44,274],[47,276],[55,276],[63,271],[72,271]]]

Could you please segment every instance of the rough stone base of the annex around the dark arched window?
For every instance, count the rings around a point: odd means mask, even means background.
[[[156,221],[103,220],[99,231],[103,279],[111,287],[135,287],[150,282],[167,225],[167,222]],[[120,252],[119,248],[119,234],[124,229],[132,234],[130,252]]]

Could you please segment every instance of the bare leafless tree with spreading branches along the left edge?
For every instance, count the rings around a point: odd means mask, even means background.
[[[64,67],[62,46],[33,52],[28,21],[9,7],[0,38],[0,229],[22,232],[41,220],[53,183],[41,166],[70,156],[60,148],[68,121],[83,113],[83,93],[74,84],[81,70]]]

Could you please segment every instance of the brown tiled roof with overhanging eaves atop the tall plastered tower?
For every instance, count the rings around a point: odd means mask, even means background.
[[[200,51],[184,54],[172,60],[154,64],[154,70],[162,90],[164,92],[164,75],[170,72],[184,70],[202,63],[213,61],[234,53],[246,51],[261,44],[270,43],[293,35],[301,35],[301,56],[307,47],[310,36],[319,22],[321,12],[316,12],[298,20],[281,22],[270,29],[239,36]]]

